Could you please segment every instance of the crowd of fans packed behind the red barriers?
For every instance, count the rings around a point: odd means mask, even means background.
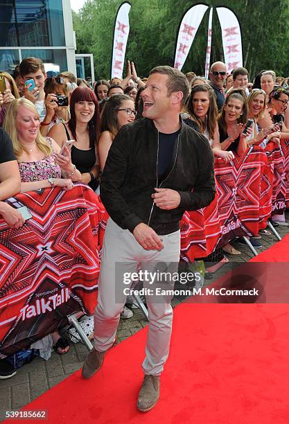
[[[250,145],[265,148],[289,137],[289,78],[263,70],[249,82],[247,69],[228,74],[222,62],[211,65],[209,80],[193,72],[186,77],[191,94],[182,119],[207,137],[216,158],[227,163]],[[47,78],[37,58],[22,60],[12,75],[0,72],[0,78],[0,215],[19,228],[24,218],[3,202],[12,195],[53,186],[71,190],[73,182],[98,193],[117,132],[141,118],[146,78],[139,78],[133,62],[123,80],[102,79],[93,86],[71,72]],[[261,247],[257,239],[252,243]],[[224,250],[240,254],[229,243]],[[131,316],[125,308],[122,317]],[[57,353],[68,351],[67,339],[58,333],[52,339]]]

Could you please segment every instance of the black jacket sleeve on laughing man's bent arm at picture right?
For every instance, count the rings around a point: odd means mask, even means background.
[[[198,173],[193,191],[179,191],[179,207],[186,211],[197,211],[208,206],[215,197],[213,150],[206,137],[198,137]]]

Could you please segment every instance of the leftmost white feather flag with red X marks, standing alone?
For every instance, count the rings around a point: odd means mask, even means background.
[[[123,64],[125,62],[125,50],[130,33],[130,3],[122,3],[116,14],[114,24],[114,44],[112,44],[112,77],[123,78]]]

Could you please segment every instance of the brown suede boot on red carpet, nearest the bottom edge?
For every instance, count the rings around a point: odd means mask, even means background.
[[[143,385],[139,391],[137,400],[137,409],[141,412],[147,412],[152,409],[159,400],[160,376],[146,375],[143,379]]]

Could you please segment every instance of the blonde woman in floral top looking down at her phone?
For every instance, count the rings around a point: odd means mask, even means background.
[[[17,157],[21,193],[53,186],[70,190],[72,181],[80,181],[80,172],[71,164],[69,149],[65,147],[60,154],[58,144],[40,133],[40,116],[30,100],[13,100],[3,127]]]

